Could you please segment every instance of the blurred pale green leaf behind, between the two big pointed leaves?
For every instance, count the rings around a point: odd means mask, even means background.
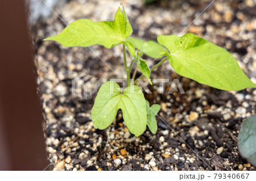
[[[147,56],[150,56],[152,58],[162,58],[163,57],[160,55],[160,52],[163,51],[165,48],[162,45],[159,45],[155,41],[152,41],[152,40],[143,41],[143,40],[137,39],[135,37],[128,37],[126,40],[133,43],[135,48],[142,51]]]

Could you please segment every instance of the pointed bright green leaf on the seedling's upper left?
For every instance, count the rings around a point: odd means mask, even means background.
[[[127,44],[125,40],[132,32],[131,25],[127,22],[127,15],[124,15],[121,9],[118,8],[114,21],[76,20],[69,24],[59,35],[44,40],[55,40],[65,47],[89,47],[90,45],[99,44],[106,48],[112,48],[114,45],[121,43]]]

